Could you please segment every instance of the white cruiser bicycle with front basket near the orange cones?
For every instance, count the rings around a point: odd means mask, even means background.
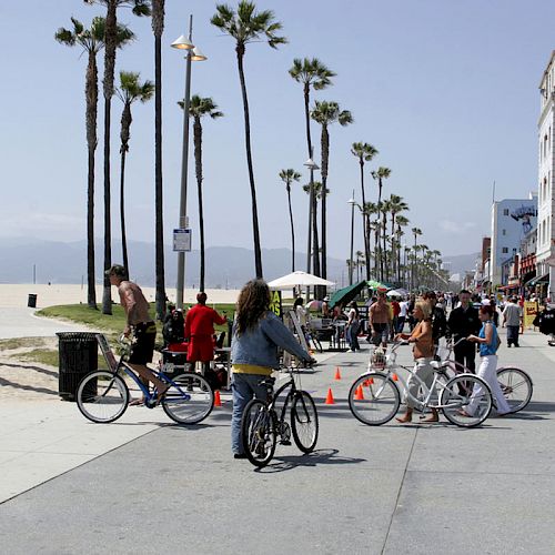
[[[404,342],[391,343],[389,352],[384,351],[381,357],[370,361],[369,370],[359,376],[349,392],[349,407],[360,422],[377,426],[390,422],[401,405],[400,382],[403,392],[424,413],[427,408],[441,410],[445,417],[461,427],[474,427],[482,424],[492,411],[492,394],[490,386],[474,374],[460,374],[444,381],[444,370],[441,364],[433,361],[434,377],[428,387],[414,370],[396,362],[396,350]],[[381,347],[377,347],[381,349]],[[406,370],[420,386],[415,397],[407,387],[407,382],[397,374],[398,370]],[[477,406],[473,416],[466,416],[463,408],[470,403],[474,385],[482,387],[477,397]],[[461,387],[460,387],[461,386]],[[435,390],[440,390],[435,401]]]

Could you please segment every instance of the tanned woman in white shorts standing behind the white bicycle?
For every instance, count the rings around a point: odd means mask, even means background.
[[[416,320],[416,325],[414,330],[408,335],[406,333],[397,333],[395,339],[407,340],[408,343],[414,343],[413,356],[414,356],[414,374],[420,377],[427,387],[432,385],[434,380],[434,369],[431,362],[434,360],[434,341],[432,332],[432,307],[426,301],[417,301],[414,305],[414,319]],[[413,397],[418,396],[420,382],[411,375],[406,383],[406,387]],[[405,414],[398,418],[397,422],[406,424],[413,420],[413,411],[415,407],[414,401],[411,397],[406,397],[406,411]],[[437,416],[437,411],[432,408],[432,415],[428,416],[424,422],[437,422],[440,418]]]

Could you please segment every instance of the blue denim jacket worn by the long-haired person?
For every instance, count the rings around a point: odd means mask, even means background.
[[[280,367],[278,347],[289,351],[302,361],[309,362],[310,354],[300,345],[295,336],[271,311],[260,319],[256,326],[236,334],[236,321],[233,323],[231,341],[231,361],[233,364],[253,364],[270,369]]]

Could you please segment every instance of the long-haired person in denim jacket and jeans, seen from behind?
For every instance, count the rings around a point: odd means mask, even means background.
[[[261,385],[261,382],[268,379],[274,369],[280,367],[278,347],[284,349],[303,362],[314,362],[270,310],[270,289],[263,280],[251,280],[239,294],[231,341],[231,448],[234,458],[246,457],[241,442],[241,417],[253,396],[266,400],[266,387]]]

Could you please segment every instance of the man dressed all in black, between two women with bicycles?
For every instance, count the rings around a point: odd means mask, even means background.
[[[463,289],[458,293],[461,306],[453,309],[447,322],[447,334],[453,343],[457,343],[463,337],[475,335],[480,332],[481,322],[478,311],[471,304],[471,293]],[[476,346],[468,341],[461,341],[453,347],[455,362],[466,366],[471,372],[476,370]]]

